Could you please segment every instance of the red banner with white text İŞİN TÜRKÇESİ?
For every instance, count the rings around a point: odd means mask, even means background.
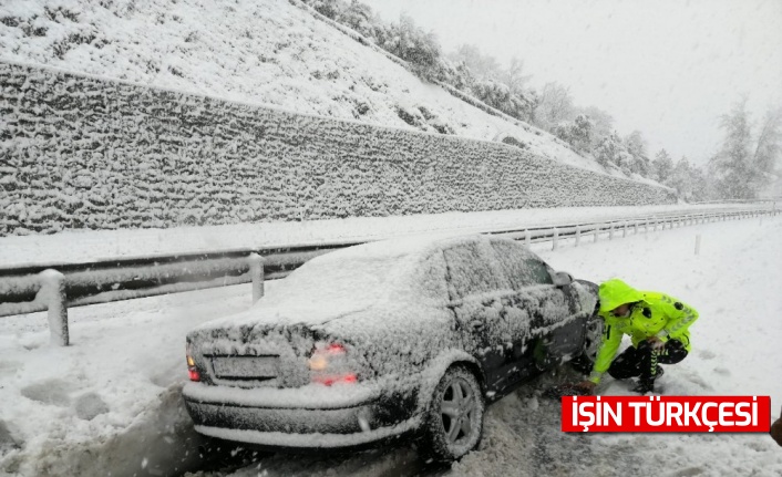
[[[567,433],[768,433],[770,396],[563,396]]]

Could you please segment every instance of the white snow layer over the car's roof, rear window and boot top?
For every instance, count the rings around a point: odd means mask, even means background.
[[[329,252],[294,271],[251,309],[209,322],[208,326],[319,324],[378,305],[443,305],[447,301],[445,269],[434,252],[490,240],[512,242],[481,235],[434,235]],[[518,250],[524,250],[521,245]]]

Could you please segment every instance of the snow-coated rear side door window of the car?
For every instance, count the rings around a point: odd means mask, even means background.
[[[500,289],[496,269],[482,252],[480,242],[462,243],[443,250],[447,265],[447,288],[452,299],[466,298]]]

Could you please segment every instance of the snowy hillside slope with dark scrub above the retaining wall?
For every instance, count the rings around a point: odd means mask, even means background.
[[[422,83],[286,0],[30,0],[0,4],[0,61],[387,126],[436,132],[445,124],[464,137],[504,133],[536,154],[604,172],[547,133]],[[402,117],[420,121],[411,126]]]

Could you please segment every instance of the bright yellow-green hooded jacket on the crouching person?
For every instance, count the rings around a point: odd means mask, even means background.
[[[656,291],[638,291],[625,282],[613,279],[600,284],[600,310],[605,320],[603,342],[597,352],[589,380],[599,383],[608,370],[621,344],[621,336],[627,334],[632,345],[650,336],[660,340],[679,340],[690,351],[688,328],[698,319],[698,312],[687,303]],[[627,300],[627,301],[622,301]],[[607,301],[607,304],[604,304]],[[636,303],[627,318],[617,318],[610,313],[624,303]],[[608,308],[611,307],[611,308]]]

